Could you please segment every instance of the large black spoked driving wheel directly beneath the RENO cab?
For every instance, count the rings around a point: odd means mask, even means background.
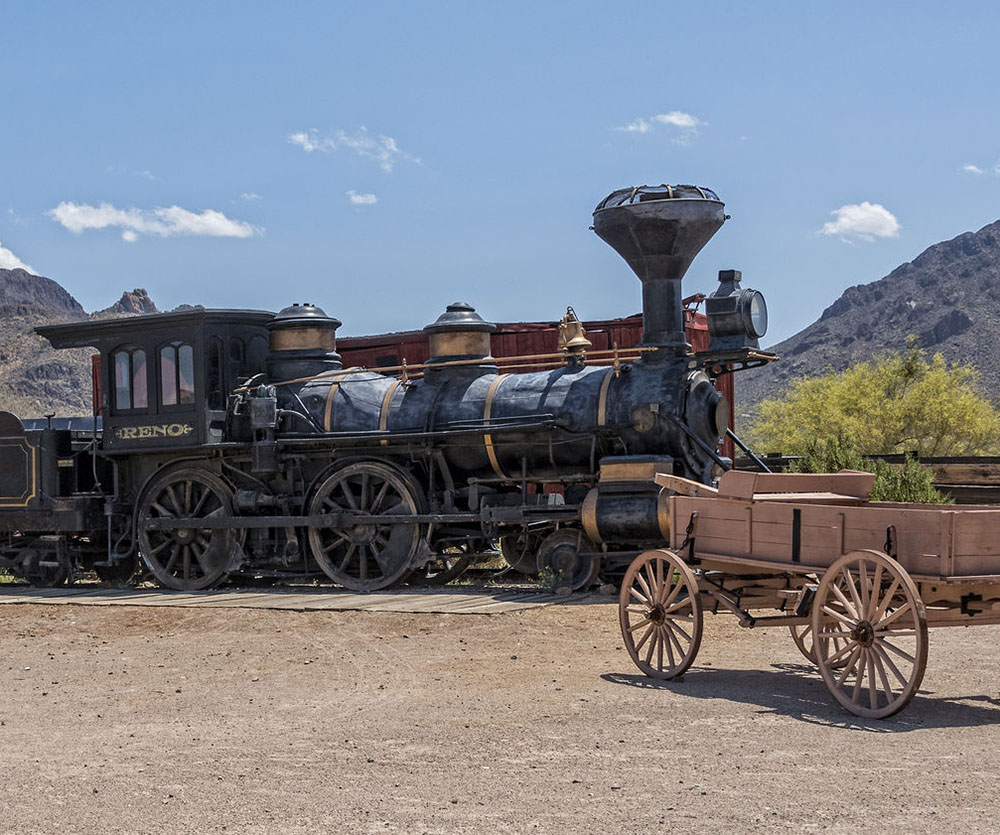
[[[232,491],[217,475],[196,467],[158,476],[139,500],[139,554],[160,585],[207,589],[226,577],[237,534],[227,528],[155,530],[153,519],[232,516]]]

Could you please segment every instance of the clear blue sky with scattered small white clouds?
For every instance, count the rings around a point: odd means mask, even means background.
[[[732,219],[684,289],[742,269],[773,343],[1000,217],[998,9],[3,0],[0,266],[344,334],[620,316],[594,206],[695,183]]]

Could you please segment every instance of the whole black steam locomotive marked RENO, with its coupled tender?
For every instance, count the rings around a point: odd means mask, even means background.
[[[774,359],[763,298],[735,270],[706,299],[709,350],[685,340],[681,279],[725,220],[695,186],[597,206],[594,231],[642,282],[626,351],[588,351],[570,311],[558,355],[500,362],[464,303],[424,329],[426,363],[378,370],[345,368],[341,323],[311,304],[39,328],[100,352],[102,427],[0,413],[0,568],[53,584],[141,561],[185,590],[318,569],[370,591],[499,539],[517,567],[586,586],[668,537],[656,472],[710,483],[730,466],[713,378]]]

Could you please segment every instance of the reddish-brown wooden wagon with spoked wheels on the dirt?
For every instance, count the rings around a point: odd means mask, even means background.
[[[657,475],[670,547],[636,557],[619,599],[639,669],[681,675],[704,612],[728,612],[741,626],[788,626],[852,713],[905,707],[928,627],[1000,623],[1000,507],[872,502],[874,478],[734,470],[715,489]]]

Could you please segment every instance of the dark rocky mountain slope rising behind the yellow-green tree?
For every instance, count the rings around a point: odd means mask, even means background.
[[[1000,220],[848,288],[816,322],[770,348],[780,362],[736,376],[737,414],[798,377],[905,349],[910,334],[929,353],[975,365],[982,393],[1000,399]]]

